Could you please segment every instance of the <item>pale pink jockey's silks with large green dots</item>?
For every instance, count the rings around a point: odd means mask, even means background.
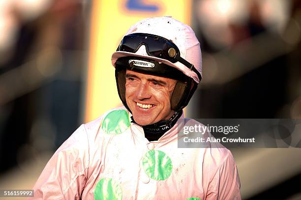
[[[121,107],[81,125],[47,163],[32,199],[241,200],[229,150],[178,148],[179,123],[149,142],[130,116]]]

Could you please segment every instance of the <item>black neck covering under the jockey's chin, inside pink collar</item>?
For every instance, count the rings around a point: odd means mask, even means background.
[[[145,137],[151,141],[157,141],[164,133],[166,133],[169,129],[171,129],[181,117],[183,111],[178,110],[175,111],[175,114],[169,120],[161,120],[152,125],[143,125],[144,135]],[[131,117],[132,123],[137,124],[134,121],[133,116]],[[139,124],[137,124],[139,125]]]

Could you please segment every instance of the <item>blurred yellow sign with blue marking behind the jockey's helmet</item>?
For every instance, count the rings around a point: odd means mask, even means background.
[[[191,0],[93,0],[85,122],[122,106],[111,55],[137,21],[172,16],[190,24]]]

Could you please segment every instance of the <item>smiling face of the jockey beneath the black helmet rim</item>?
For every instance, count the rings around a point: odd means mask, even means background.
[[[175,113],[170,100],[176,80],[126,70],[125,99],[139,125],[168,120]]]

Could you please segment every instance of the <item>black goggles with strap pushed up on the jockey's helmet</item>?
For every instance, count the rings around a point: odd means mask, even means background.
[[[195,72],[202,79],[199,71],[193,64],[180,56],[180,50],[172,41],[161,36],[147,33],[132,33],[123,37],[117,51],[135,53],[142,45],[145,45],[148,55],[168,60],[172,63],[180,62]]]

